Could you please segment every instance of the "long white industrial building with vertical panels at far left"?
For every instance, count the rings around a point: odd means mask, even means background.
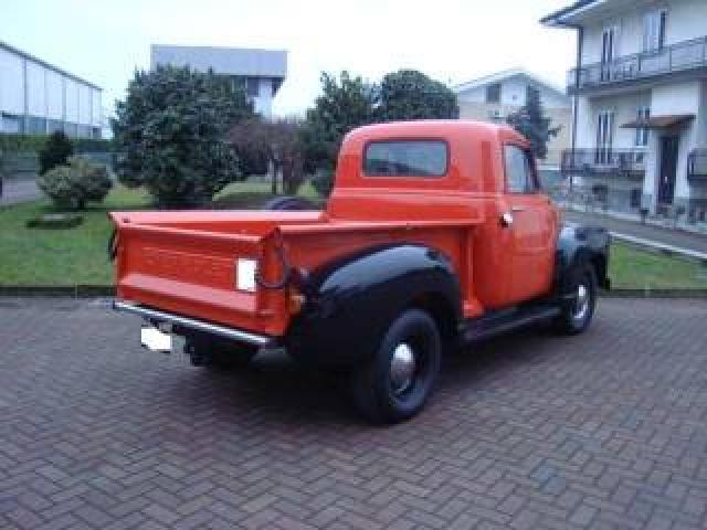
[[[0,41],[0,132],[101,138],[101,92]]]

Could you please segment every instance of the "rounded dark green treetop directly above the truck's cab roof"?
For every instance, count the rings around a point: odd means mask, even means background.
[[[401,119],[456,119],[456,96],[444,84],[416,70],[400,70],[383,77],[377,117],[380,121]]]

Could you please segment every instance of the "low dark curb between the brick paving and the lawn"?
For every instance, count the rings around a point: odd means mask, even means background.
[[[115,296],[113,285],[0,285],[0,297],[104,298]],[[707,299],[707,289],[623,289],[600,290],[603,298]]]

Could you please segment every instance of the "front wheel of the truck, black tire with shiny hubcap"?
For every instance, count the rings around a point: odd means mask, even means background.
[[[589,264],[568,272],[562,283],[562,312],[556,328],[563,335],[579,335],[589,328],[597,306],[597,275]]]

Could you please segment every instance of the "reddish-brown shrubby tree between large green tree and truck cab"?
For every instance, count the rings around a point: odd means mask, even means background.
[[[302,130],[303,124],[297,119],[266,121],[256,117],[235,126],[231,141],[240,156],[266,161],[273,172],[273,194],[277,193],[277,174],[281,173],[285,193],[294,194],[305,176]]]

